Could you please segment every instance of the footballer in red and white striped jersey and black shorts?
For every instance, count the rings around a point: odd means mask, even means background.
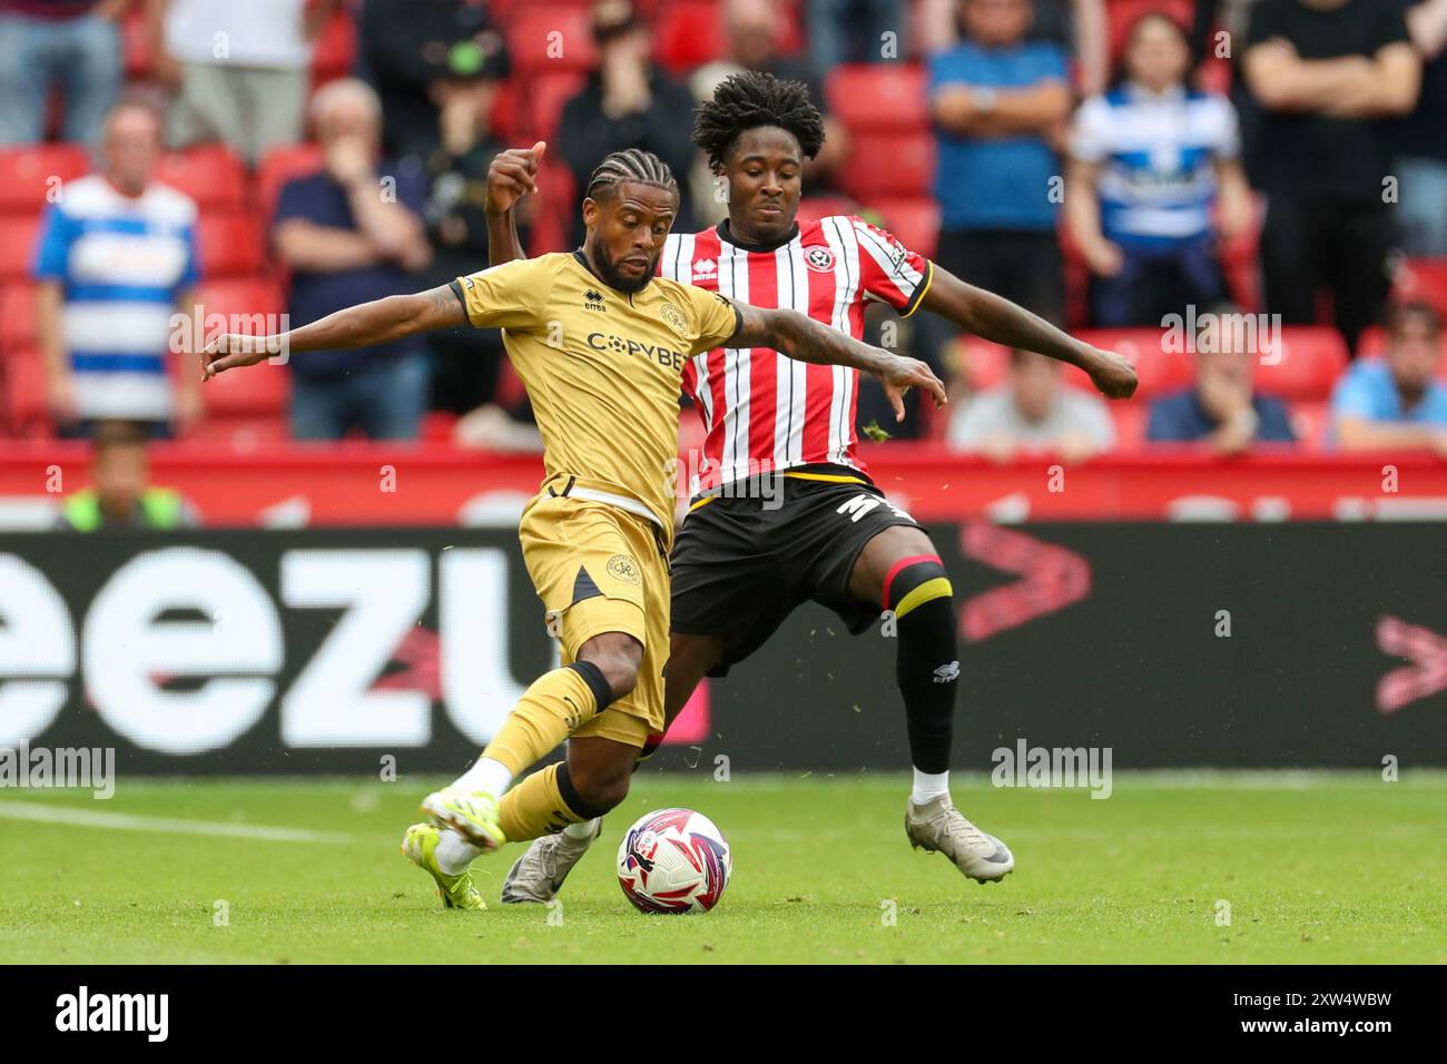
[[[867,300],[919,307],[959,329],[1084,369],[1110,398],[1136,389],[1130,363],[1066,336],[1027,310],[974,288],[857,217],[796,220],[806,159],[823,120],[802,83],[745,72],[699,106],[695,143],[726,193],[715,229],[673,235],[658,269],[760,307],[790,307],[858,337]],[[540,145],[541,146],[541,145]],[[489,172],[492,262],[521,258],[512,204],[534,191],[538,148],[499,155]],[[1042,193],[1043,194],[1043,193]],[[893,617],[915,788],[904,829],[981,883],[1014,857],[949,796],[959,680],[949,575],[929,536],[893,507],[855,456],[857,375],[774,350],[697,355],[683,387],[708,426],[706,469],[674,540],[664,714],[671,724],[699,680],[724,676],[802,602],[833,609],[860,634]],[[661,738],[661,737],[658,737]],[[504,902],[553,898],[596,834],[593,822],[534,840]]]

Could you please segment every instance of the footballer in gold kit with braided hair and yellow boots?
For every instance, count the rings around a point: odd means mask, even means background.
[[[518,171],[519,194],[532,188],[530,166]],[[278,352],[362,347],[463,321],[502,329],[544,447],[546,476],[518,534],[563,653],[473,766],[423,801],[428,822],[404,837],[402,851],[433,876],[447,908],[485,908],[469,873],[485,850],[559,829],[596,832],[627,796],[648,735],[663,731],[671,472],[687,359],[715,347],[773,347],[875,375],[900,414],[915,385],[945,400],[922,362],[793,310],[654,276],[677,208],[666,164],[640,149],[614,152],[589,178],[587,236],[576,252],[349,307],[281,336],[221,336],[203,353],[210,378]],[[566,760],[512,786],[564,738]]]

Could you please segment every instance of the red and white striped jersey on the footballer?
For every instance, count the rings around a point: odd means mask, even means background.
[[[890,233],[842,214],[803,221],[792,240],[770,248],[738,243],[728,221],[673,233],[658,259],[661,276],[755,307],[797,310],[855,339],[864,336],[867,300],[910,314],[930,271]],[[700,489],[816,462],[864,468],[855,456],[858,371],[796,362],[770,347],[719,347],[689,360],[683,389],[708,431]]]

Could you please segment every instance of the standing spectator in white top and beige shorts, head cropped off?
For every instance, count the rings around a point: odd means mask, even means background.
[[[311,42],[337,0],[146,0],[156,78],[178,96],[172,146],[230,145],[256,162],[301,140]]]

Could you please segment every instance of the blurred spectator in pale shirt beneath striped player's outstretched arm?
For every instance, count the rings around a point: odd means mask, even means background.
[[[997,462],[1051,452],[1082,462],[1116,446],[1116,423],[1095,395],[1061,384],[1061,362],[1010,352],[1010,379],[975,395],[949,423],[949,446]]]

